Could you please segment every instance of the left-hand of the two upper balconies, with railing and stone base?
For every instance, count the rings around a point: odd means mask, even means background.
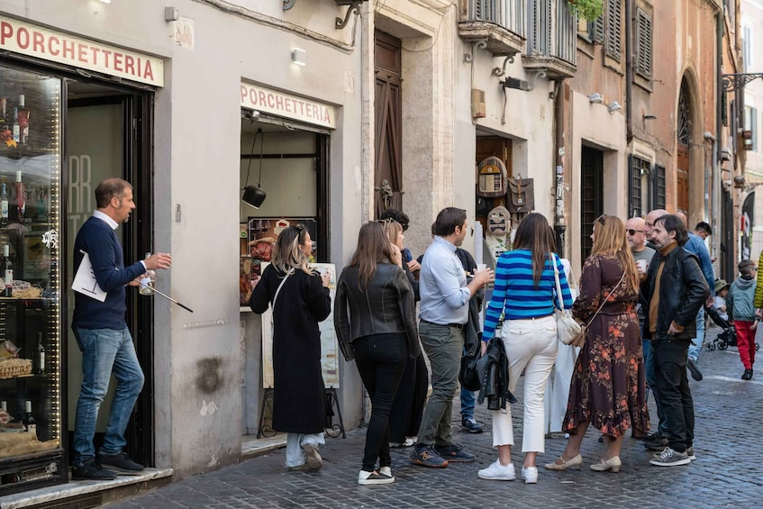
[[[524,51],[528,0],[460,0],[459,36],[496,56]]]

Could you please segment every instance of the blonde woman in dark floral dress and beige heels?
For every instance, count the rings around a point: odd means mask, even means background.
[[[561,457],[546,468],[580,468],[580,444],[589,424],[604,434],[604,458],[590,468],[620,471],[625,432],[649,432],[646,372],[639,316],[639,274],[625,237],[625,223],[603,215],[594,222],[594,247],[583,265],[580,295],[572,314],[589,323],[586,343],[572,374],[563,428],[569,433]]]

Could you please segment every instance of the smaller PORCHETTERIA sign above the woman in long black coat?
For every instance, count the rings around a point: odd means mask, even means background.
[[[331,105],[324,105],[304,97],[289,95],[259,85],[241,83],[241,107],[293,118],[304,123],[336,128],[336,113]]]

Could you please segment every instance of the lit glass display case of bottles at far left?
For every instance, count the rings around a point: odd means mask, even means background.
[[[61,80],[0,66],[0,495],[65,482]]]

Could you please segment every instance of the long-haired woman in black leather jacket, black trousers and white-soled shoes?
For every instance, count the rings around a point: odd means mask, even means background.
[[[392,483],[389,410],[406,360],[419,353],[419,339],[413,289],[400,250],[380,223],[360,227],[358,248],[337,283],[334,326],[345,359],[355,359],[371,398],[358,484]]]

